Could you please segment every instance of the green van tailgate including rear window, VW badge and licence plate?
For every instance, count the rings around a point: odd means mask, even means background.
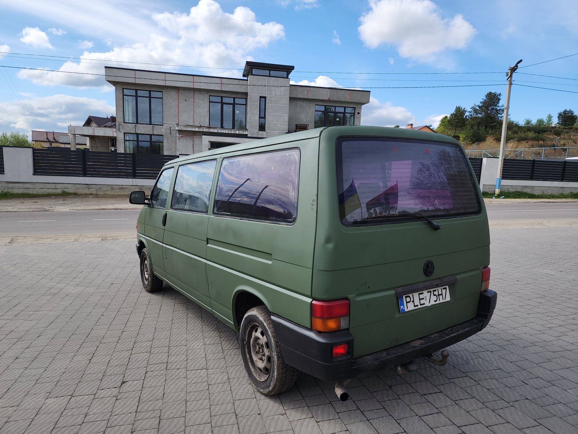
[[[327,167],[320,162],[327,182],[318,187],[313,298],[350,300],[354,356],[475,317],[490,238],[460,145],[384,137],[330,142]],[[435,290],[420,295],[433,288],[416,284],[433,281]]]

